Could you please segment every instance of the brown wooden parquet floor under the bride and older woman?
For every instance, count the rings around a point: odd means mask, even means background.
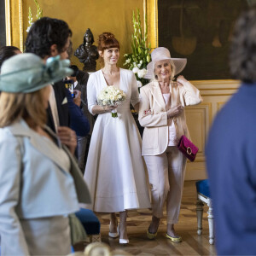
[[[146,232],[151,220],[150,210],[128,212],[127,230],[130,240],[128,245],[119,245],[118,238],[108,237],[109,214],[97,213],[102,224],[102,242],[107,243],[111,249],[121,249],[131,255],[216,255],[214,246],[208,242],[207,206],[204,207],[202,235],[197,235],[195,202],[195,182],[186,181],[179,223],[175,226],[177,234],[183,237],[181,243],[166,239],[166,218],[162,218],[160,222],[157,238],[148,240]]]

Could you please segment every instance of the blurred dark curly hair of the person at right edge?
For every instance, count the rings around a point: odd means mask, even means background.
[[[256,5],[236,21],[230,46],[230,73],[233,79],[256,81]]]

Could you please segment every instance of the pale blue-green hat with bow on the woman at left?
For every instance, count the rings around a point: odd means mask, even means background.
[[[69,60],[60,56],[50,57],[46,63],[32,53],[15,55],[3,62],[0,75],[0,90],[28,93],[60,81],[73,70],[68,68]]]

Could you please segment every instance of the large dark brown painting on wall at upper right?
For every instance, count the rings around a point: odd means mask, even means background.
[[[230,79],[232,30],[253,0],[158,0],[159,46],[187,58],[189,80]]]

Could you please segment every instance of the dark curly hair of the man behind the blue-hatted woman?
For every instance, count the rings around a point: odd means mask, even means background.
[[[34,53],[41,58],[50,55],[50,47],[57,45],[59,53],[63,52],[72,31],[64,20],[43,17],[30,28],[26,38],[26,52]]]

